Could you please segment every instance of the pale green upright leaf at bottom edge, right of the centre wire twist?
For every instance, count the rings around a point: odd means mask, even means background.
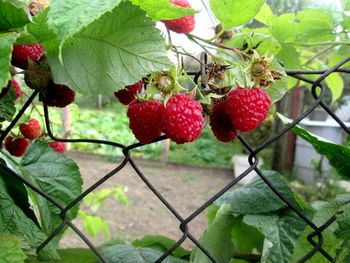
[[[199,242],[220,263],[229,263],[234,254],[234,244],[231,241],[230,229],[235,223],[229,204],[223,204],[214,221],[205,230]],[[200,249],[195,249],[191,255],[193,263],[212,262]]]

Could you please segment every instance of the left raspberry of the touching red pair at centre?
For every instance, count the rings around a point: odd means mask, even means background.
[[[134,100],[129,105],[128,117],[130,129],[143,144],[150,143],[162,133],[162,111],[159,101]]]

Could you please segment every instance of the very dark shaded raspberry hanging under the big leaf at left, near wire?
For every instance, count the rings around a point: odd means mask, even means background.
[[[64,108],[75,100],[75,91],[66,85],[51,83],[39,98],[47,106]]]

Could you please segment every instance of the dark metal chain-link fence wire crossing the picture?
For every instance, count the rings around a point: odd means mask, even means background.
[[[242,174],[240,174],[238,177],[234,178],[229,184],[227,184],[225,187],[223,187],[220,191],[218,191],[214,196],[212,196],[209,200],[204,202],[200,207],[198,207],[195,211],[192,212],[188,217],[183,217],[180,215],[180,213],[172,206],[170,202],[167,201],[167,199],[157,190],[155,186],[147,179],[147,176],[138,168],[138,166],[135,164],[133,159],[131,158],[132,150],[136,148],[140,148],[143,146],[141,143],[135,143],[132,145],[122,145],[117,142],[112,141],[105,141],[105,140],[91,140],[91,139],[64,139],[64,138],[57,138],[53,135],[51,127],[50,127],[50,116],[47,105],[43,105],[44,107],[44,116],[45,116],[45,124],[46,129],[48,132],[49,137],[58,142],[69,142],[69,143],[94,143],[94,144],[104,144],[104,145],[110,145],[113,147],[120,148],[123,152],[124,159],[122,162],[112,171],[107,173],[104,177],[99,179],[97,182],[95,182],[92,186],[90,186],[87,190],[85,190],[81,195],[77,196],[72,202],[70,202],[67,206],[62,206],[57,200],[53,199],[50,195],[47,193],[41,191],[39,188],[37,188],[34,184],[32,184],[30,181],[26,180],[22,176],[18,175],[15,171],[11,170],[9,167],[7,167],[5,164],[0,163],[0,166],[7,171],[10,175],[15,177],[17,180],[21,181],[23,184],[25,184],[28,188],[39,194],[40,196],[44,197],[47,201],[51,202],[55,207],[57,207],[60,210],[60,217],[62,218],[61,224],[47,237],[47,239],[39,246],[37,247],[37,252],[42,250],[53,238],[55,238],[57,235],[60,234],[61,231],[63,231],[65,226],[70,227],[88,246],[89,248],[94,252],[96,257],[104,263],[108,263],[103,256],[99,253],[99,251],[96,249],[94,244],[89,240],[89,238],[82,233],[69,219],[68,219],[68,212],[70,209],[72,209],[75,205],[77,205],[79,202],[81,202],[84,197],[86,197],[89,193],[96,190],[99,186],[103,185],[108,179],[110,179],[112,176],[115,176],[119,171],[121,171],[126,164],[130,164],[132,168],[135,170],[137,175],[141,178],[141,180],[144,182],[144,184],[148,187],[150,191],[153,192],[153,194],[164,204],[164,206],[177,218],[179,221],[179,228],[181,232],[183,233],[181,238],[177,240],[177,242],[168,250],[166,251],[160,258],[158,258],[155,262],[160,263],[163,260],[165,260],[169,255],[174,252],[175,249],[177,249],[181,244],[186,240],[191,240],[195,246],[197,246],[212,262],[214,263],[220,263],[217,261],[210,253],[209,251],[201,245],[201,243],[191,234],[189,230],[189,223],[194,220],[199,214],[201,214],[206,208],[208,208],[214,201],[216,201],[219,197],[221,197],[225,192],[230,190],[232,187],[237,185],[238,182],[240,182],[244,177],[246,177],[250,172],[253,170],[258,174],[258,176],[265,182],[265,184],[273,191],[276,196],[278,196],[290,209],[292,209],[308,226],[310,226],[313,229],[313,232],[310,233],[307,236],[308,242],[313,246],[313,249],[307,253],[303,258],[301,258],[298,262],[306,262],[308,259],[313,257],[317,252],[321,253],[329,262],[333,262],[333,257],[323,248],[324,245],[324,238],[323,238],[323,231],[327,229],[333,222],[336,221],[336,214],[331,216],[323,225],[316,226],[311,219],[303,213],[295,204],[293,204],[288,198],[286,198],[282,193],[278,191],[278,189],[273,185],[271,181],[264,175],[264,173],[258,168],[259,163],[259,156],[258,154],[275,143],[277,140],[279,140],[283,135],[285,135],[287,132],[289,132],[293,127],[295,127],[299,122],[301,122],[304,118],[306,118],[312,111],[315,110],[316,107],[321,106],[338,124],[342,129],[347,133],[350,134],[350,130],[347,128],[347,126],[342,122],[337,115],[327,106],[327,104],[323,101],[325,92],[326,92],[326,86],[323,84],[323,81],[332,73],[334,72],[342,72],[342,73],[350,73],[350,70],[342,69],[341,67],[346,63],[350,61],[350,57],[342,60],[337,65],[335,65],[332,68],[329,68],[327,70],[288,70],[287,74],[295,79],[307,82],[312,84],[311,93],[314,98],[314,103],[302,114],[299,115],[298,118],[296,118],[291,124],[286,126],[285,128],[281,129],[277,133],[275,133],[271,138],[266,140],[264,143],[259,145],[256,148],[251,147],[248,142],[242,137],[238,136],[238,139],[240,143],[244,146],[244,148],[250,153],[249,154],[249,164],[250,167],[244,171]],[[188,72],[189,75],[194,75],[194,80],[196,83],[198,83],[198,79],[200,77],[203,78],[203,76],[206,74],[204,65],[207,64],[207,57],[206,54],[203,53],[201,55],[201,68],[198,72]],[[316,80],[309,79],[307,75],[320,75]],[[206,84],[202,83],[201,86],[205,88]],[[23,105],[23,107],[20,109],[18,114],[15,116],[13,121],[10,123],[10,125],[6,128],[6,130],[1,134],[0,136],[0,142],[4,140],[4,138],[9,134],[11,129],[16,125],[18,120],[21,118],[21,116],[24,114],[26,109],[30,106],[30,104],[33,102],[33,100],[37,97],[39,92],[34,91],[33,94],[28,98],[27,102]],[[162,141],[167,139],[165,136],[161,136],[152,143]],[[247,260],[247,259],[246,259]],[[253,255],[250,259],[251,262],[259,262],[260,256],[259,255]]]

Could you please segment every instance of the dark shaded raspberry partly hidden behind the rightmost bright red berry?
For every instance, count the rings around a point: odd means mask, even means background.
[[[214,105],[213,113],[210,116],[210,127],[219,141],[229,142],[236,139],[238,134],[226,113],[225,102],[221,101]]]

